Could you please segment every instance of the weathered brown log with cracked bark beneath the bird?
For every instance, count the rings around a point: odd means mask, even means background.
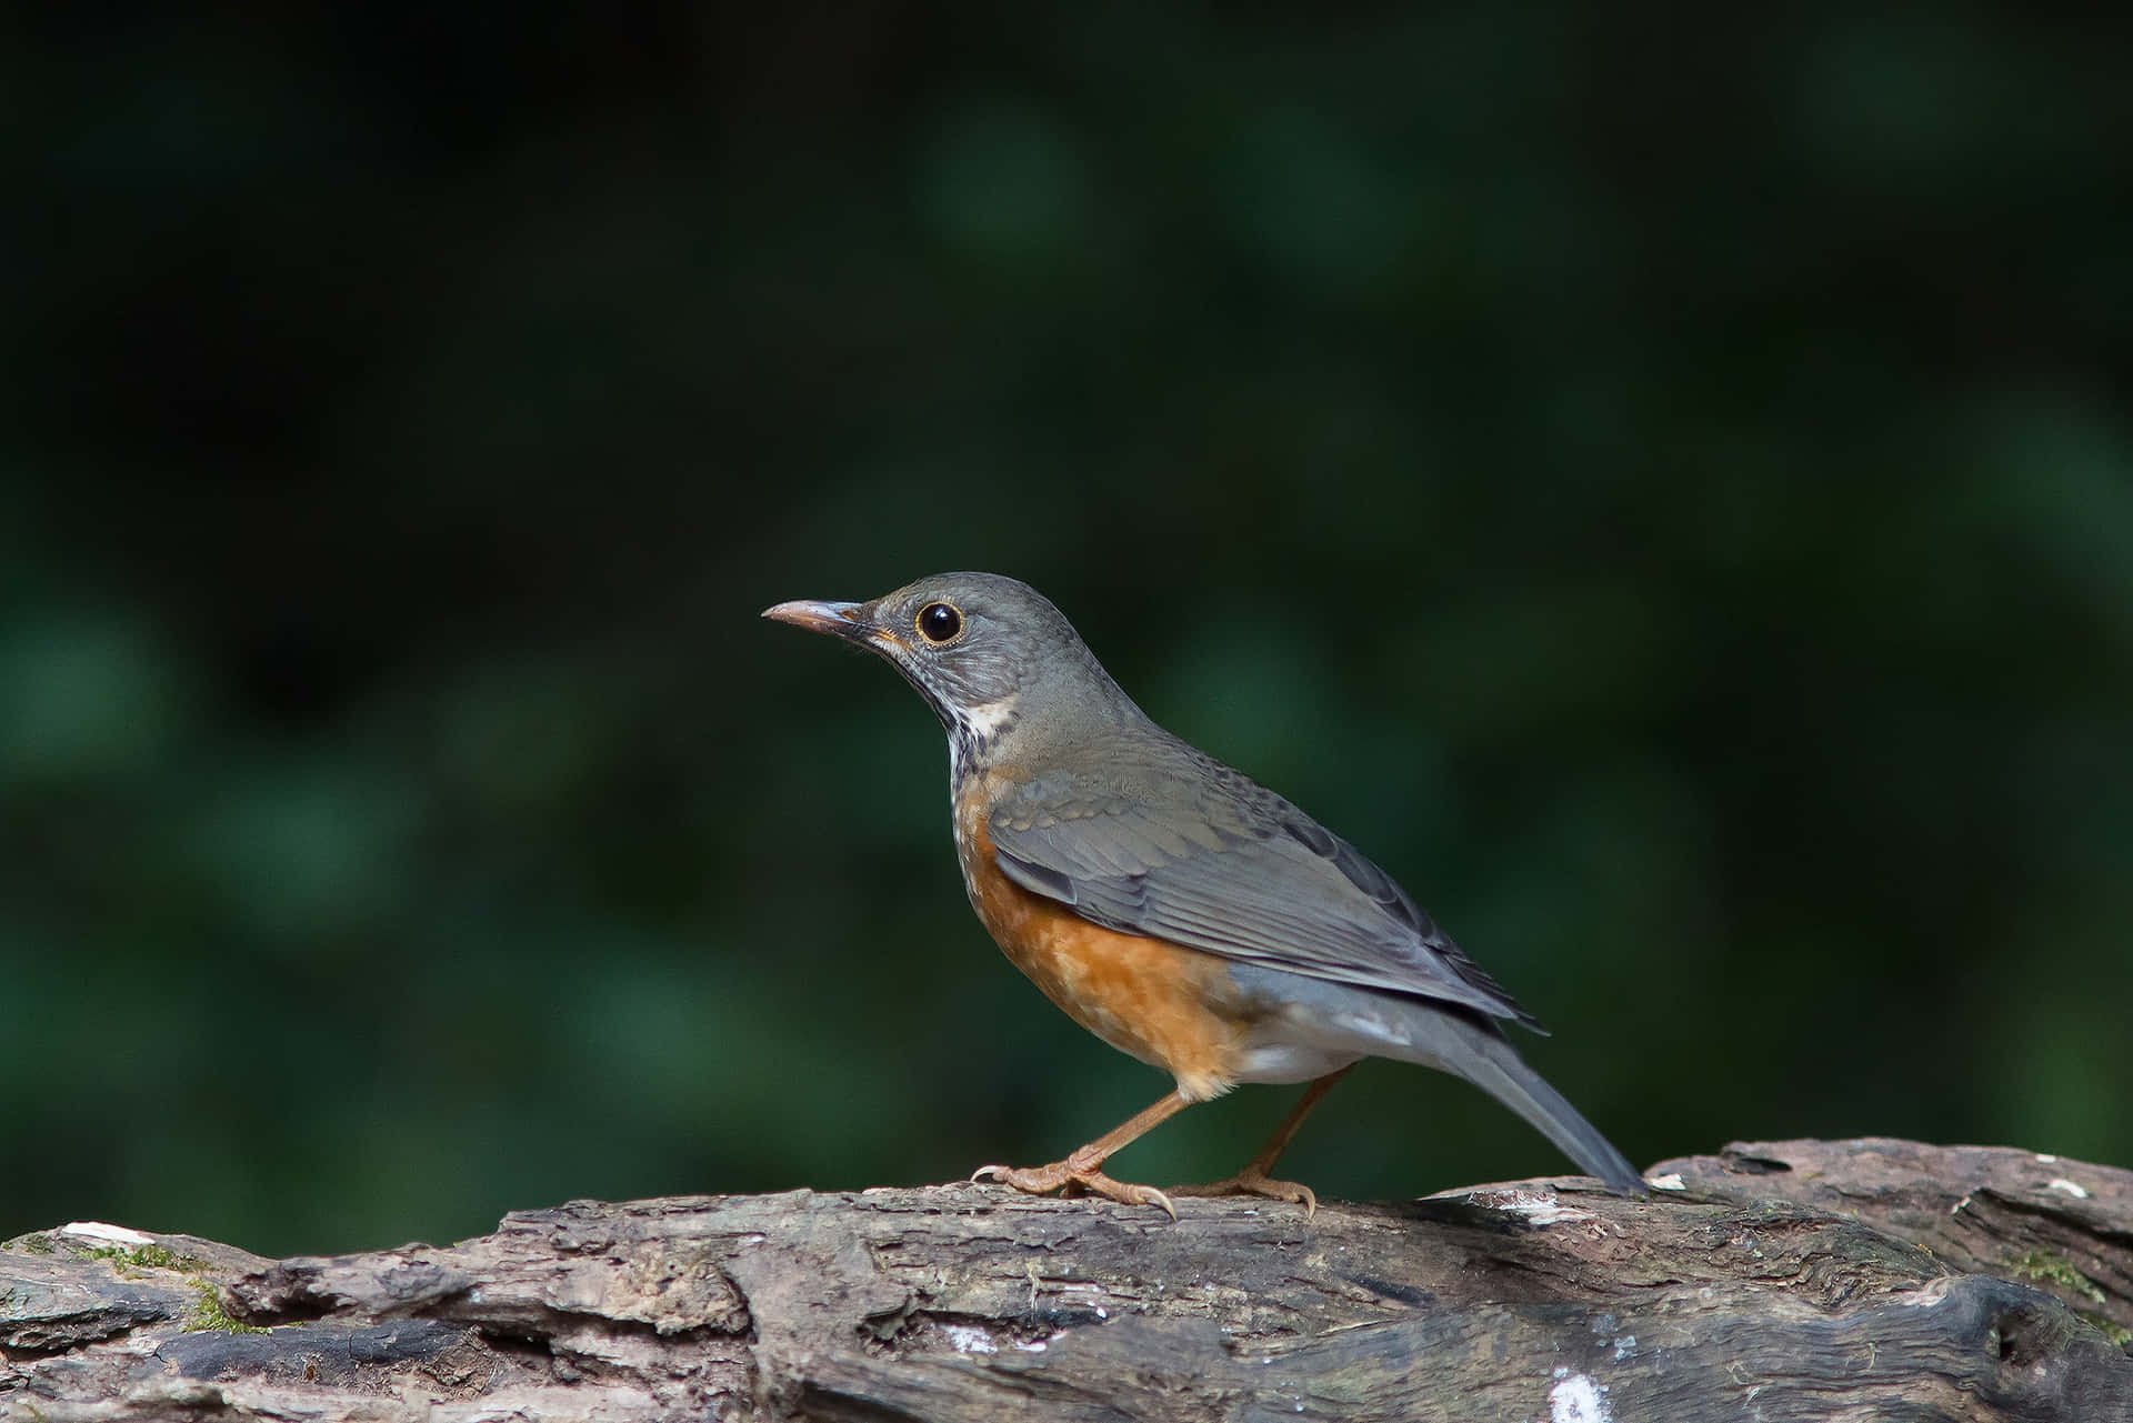
[[[2129,1171],[1869,1139],[1653,1180],[580,1201],[288,1261],[68,1227],[0,1250],[0,1419],[2133,1419]]]

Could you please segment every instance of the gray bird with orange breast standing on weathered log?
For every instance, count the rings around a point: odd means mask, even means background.
[[[1256,1195],[1303,1118],[1359,1060],[1421,1062],[1495,1097],[1615,1193],[1642,1178],[1525,1065],[1506,1022],[1540,1024],[1348,841],[1165,732],[1037,589],[934,574],[870,602],[783,602],[766,619],[896,668],[947,730],[956,858],[979,922],[1077,1024],[1173,1090],[1039,1167],[979,1167],[1030,1195]],[[1239,1084],[1310,1086],[1235,1176],[1158,1190],[1113,1152]]]

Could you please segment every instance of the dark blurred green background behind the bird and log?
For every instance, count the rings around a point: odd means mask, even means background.
[[[1017,574],[1638,1163],[2133,1161],[2124,15],[9,21],[0,1235],[1037,1163],[1165,1080],[757,610]],[[1220,1176],[1290,1090],[1120,1158]],[[1559,1171],[1367,1065],[1322,1195]]]

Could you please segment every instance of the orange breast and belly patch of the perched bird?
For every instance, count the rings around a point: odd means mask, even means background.
[[[1188,1099],[1226,1092],[1250,1024],[1224,962],[1090,924],[1007,879],[992,858],[988,802],[977,779],[956,798],[956,856],[971,907],[1007,958],[1077,1024],[1177,1077]]]

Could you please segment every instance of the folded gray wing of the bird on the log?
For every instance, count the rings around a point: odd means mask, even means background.
[[[1041,777],[994,802],[1000,870],[1122,932],[1538,1026],[1352,845],[1244,774]]]

